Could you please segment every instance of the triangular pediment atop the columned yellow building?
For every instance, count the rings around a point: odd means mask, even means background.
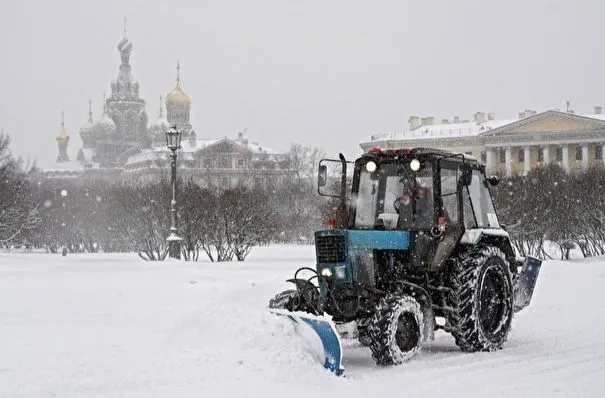
[[[605,121],[558,111],[547,111],[506,126],[493,129],[485,135],[512,135],[528,133],[561,133],[605,129]]]

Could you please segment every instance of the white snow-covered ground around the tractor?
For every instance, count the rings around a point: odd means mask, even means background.
[[[345,340],[344,378],[265,310],[313,264],[311,246],[227,264],[0,253],[0,397],[605,396],[604,258],[546,261],[501,351],[438,332],[383,368]]]

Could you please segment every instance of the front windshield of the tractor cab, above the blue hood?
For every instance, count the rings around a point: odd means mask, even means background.
[[[354,228],[418,229],[433,223],[433,177],[429,163],[412,172],[409,164],[382,164],[370,173],[360,168],[353,197]]]

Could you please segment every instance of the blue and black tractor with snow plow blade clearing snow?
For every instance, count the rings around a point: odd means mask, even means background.
[[[437,329],[462,351],[500,349],[541,261],[515,257],[490,194],[498,179],[469,155],[427,148],[374,148],[352,180],[350,166],[342,154],[320,162],[319,193],[340,204],[335,225],[315,233],[315,269],[298,270],[269,307],[311,326],[336,373],[338,324],[356,325],[378,365],[414,357]]]

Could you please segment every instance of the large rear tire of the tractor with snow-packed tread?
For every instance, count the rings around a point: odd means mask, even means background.
[[[454,263],[449,285],[453,313],[447,321],[462,351],[495,351],[506,341],[513,319],[513,284],[504,253],[477,246]]]

